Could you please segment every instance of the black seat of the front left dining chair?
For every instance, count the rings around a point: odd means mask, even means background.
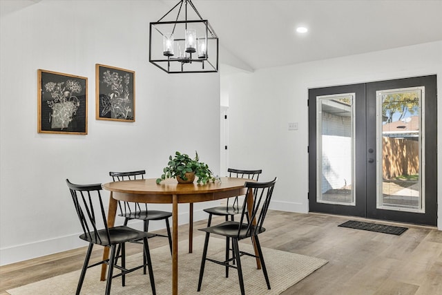
[[[108,240],[106,229],[99,229],[98,235],[101,239],[98,238],[94,232],[90,232],[90,236],[88,234],[82,234],[79,236],[81,240],[86,240],[88,242],[93,242],[97,245],[102,246],[110,246],[121,244],[128,240],[140,240],[144,237],[151,238],[155,236],[154,234],[147,233],[145,231],[137,231],[136,229],[132,229],[131,227],[111,227],[109,228],[109,236],[111,240]]]

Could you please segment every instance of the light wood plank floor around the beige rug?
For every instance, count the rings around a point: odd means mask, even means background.
[[[400,224],[409,229],[394,236],[338,227],[350,219],[363,220],[269,211],[267,231],[260,235],[262,247],[329,260],[284,295],[442,294],[442,231]],[[216,221],[214,218],[213,222]],[[203,234],[197,229],[204,225],[204,220],[195,222],[195,236]],[[179,235],[180,240],[187,238],[186,226],[180,226]],[[163,245],[167,245],[166,238],[149,240],[151,249]],[[129,246],[128,254],[140,249],[138,245]],[[81,248],[0,267],[0,295],[8,294],[6,290],[13,287],[81,269],[85,253],[86,248]],[[93,255],[98,260],[102,250]]]

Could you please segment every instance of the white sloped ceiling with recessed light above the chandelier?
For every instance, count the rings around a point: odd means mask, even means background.
[[[1,15],[39,1],[0,0]],[[162,2],[167,10],[178,1]],[[244,70],[442,40],[442,0],[193,0],[193,3],[220,39],[220,62]],[[309,28],[309,32],[297,33],[295,29],[300,25]]]

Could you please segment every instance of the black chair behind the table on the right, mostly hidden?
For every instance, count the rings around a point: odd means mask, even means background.
[[[251,180],[258,181],[260,178],[260,174],[262,173],[262,170],[240,170],[240,169],[233,169],[229,168],[227,169],[227,172],[229,172],[229,177],[233,178],[247,178]],[[233,202],[230,202],[229,200],[233,199]],[[207,227],[210,227],[212,222],[212,216],[225,216],[226,221],[229,220],[229,216],[231,220],[235,220],[235,215],[241,213],[241,208],[238,202],[238,196],[233,198],[228,198],[227,203],[223,206],[218,207],[211,207],[204,209],[206,213],[209,213],[209,221],[207,222]],[[230,239],[229,237],[226,238],[226,260],[229,259],[229,250],[230,250]],[[232,255],[234,257],[234,252],[232,250]],[[226,278],[229,277],[229,267],[226,267]]]

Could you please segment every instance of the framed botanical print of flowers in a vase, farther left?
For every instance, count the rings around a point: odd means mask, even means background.
[[[38,133],[88,134],[88,78],[38,70]]]

